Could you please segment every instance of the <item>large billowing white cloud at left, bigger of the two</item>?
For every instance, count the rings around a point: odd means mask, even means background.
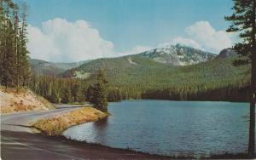
[[[28,26],[28,50],[32,58],[50,61],[79,61],[114,56],[113,43],[102,39],[84,20],[56,18],[42,27]]]

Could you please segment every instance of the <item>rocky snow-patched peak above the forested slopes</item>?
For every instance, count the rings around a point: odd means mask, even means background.
[[[172,66],[193,65],[208,60],[213,60],[216,54],[194,49],[181,44],[166,45],[163,48],[151,49],[142,53],[154,61]]]

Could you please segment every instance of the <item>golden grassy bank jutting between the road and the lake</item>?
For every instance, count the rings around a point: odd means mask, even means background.
[[[41,130],[44,134],[55,136],[60,135],[71,126],[94,122],[107,116],[107,113],[98,111],[93,107],[83,107],[61,115],[38,120],[33,124],[33,127]]]

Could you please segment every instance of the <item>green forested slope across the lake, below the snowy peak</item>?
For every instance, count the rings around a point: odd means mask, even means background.
[[[133,58],[138,65],[130,69],[124,65],[115,68],[113,62],[105,60],[110,83],[108,100],[245,101],[248,100],[250,65],[234,66],[235,60],[211,60],[193,66],[154,66]],[[125,60],[122,63],[125,64]]]

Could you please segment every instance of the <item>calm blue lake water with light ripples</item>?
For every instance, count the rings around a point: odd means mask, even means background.
[[[247,103],[127,100],[110,103],[108,110],[108,118],[74,126],[64,135],[161,155],[247,150]]]

